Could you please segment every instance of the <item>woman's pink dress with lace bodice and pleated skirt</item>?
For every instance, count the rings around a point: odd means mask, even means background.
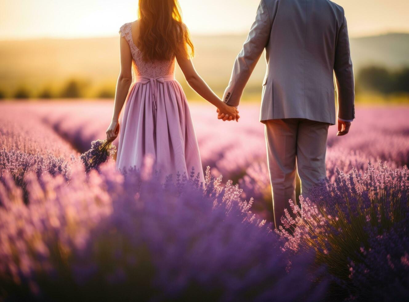
[[[133,42],[131,23],[119,29],[132,53],[133,84],[122,118],[117,153],[117,168],[141,168],[150,154],[160,178],[180,173],[204,182],[202,162],[195,130],[182,87],[175,80],[175,58],[171,61],[145,62]]]

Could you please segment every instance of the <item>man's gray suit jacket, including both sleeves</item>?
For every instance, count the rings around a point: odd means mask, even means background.
[[[223,96],[238,106],[266,50],[260,121],[307,118],[335,124],[355,118],[354,75],[344,9],[329,0],[261,0]]]

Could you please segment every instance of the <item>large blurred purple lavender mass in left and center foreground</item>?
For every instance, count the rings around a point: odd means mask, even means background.
[[[310,254],[288,258],[231,182],[164,186],[149,165],[122,175],[27,177],[30,202],[0,185],[0,292],[37,300],[317,300]],[[288,268],[288,260],[292,262]],[[63,297],[63,298],[62,298]]]

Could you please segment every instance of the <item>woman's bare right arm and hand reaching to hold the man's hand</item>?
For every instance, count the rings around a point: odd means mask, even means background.
[[[238,115],[238,110],[235,107],[231,107],[222,100],[207,86],[206,82],[198,75],[193,62],[188,58],[186,54],[177,55],[176,59],[180,69],[182,70],[186,81],[189,86],[192,87],[202,98],[207,100],[209,103],[217,107],[220,114],[225,114],[227,116],[223,120],[237,120],[240,118]]]

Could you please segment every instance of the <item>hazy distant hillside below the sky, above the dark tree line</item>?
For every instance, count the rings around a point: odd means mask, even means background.
[[[246,36],[193,36],[194,64],[219,93],[229,80],[234,59]],[[375,64],[389,68],[409,66],[409,34],[385,34],[351,39],[355,70]],[[67,78],[84,79],[94,86],[115,85],[119,72],[119,35],[91,39],[0,41],[0,88],[55,86]],[[247,93],[259,92],[265,73],[261,59]],[[182,79],[180,72],[178,78]],[[184,83],[183,80],[180,82]],[[184,85],[185,86],[185,85]]]

